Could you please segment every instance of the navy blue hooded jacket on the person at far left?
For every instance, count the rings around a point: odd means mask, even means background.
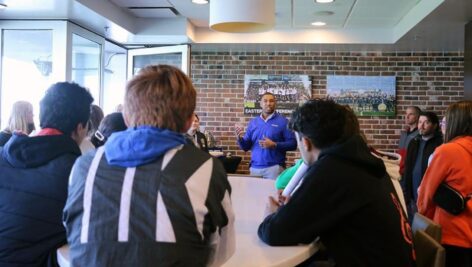
[[[0,148],[0,265],[46,266],[66,243],[62,209],[80,150],[66,135],[16,135]]]

